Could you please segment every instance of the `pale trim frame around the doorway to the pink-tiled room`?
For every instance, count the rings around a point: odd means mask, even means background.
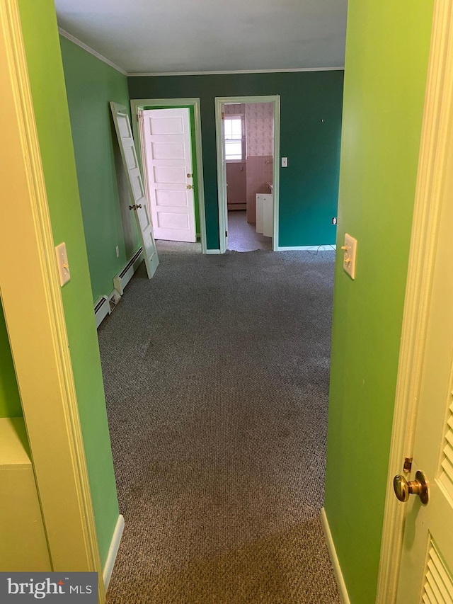
[[[217,144],[217,191],[219,203],[219,249],[226,251],[226,230],[228,227],[226,200],[226,161],[222,137],[223,106],[229,103],[273,103],[273,251],[278,249],[278,208],[280,194],[280,95],[270,96],[216,96],[215,97],[215,138]]]

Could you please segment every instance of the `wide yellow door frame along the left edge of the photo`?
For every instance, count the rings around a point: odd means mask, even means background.
[[[103,570],[17,0],[0,1],[1,301],[54,571]],[[24,277],[26,275],[26,278]],[[33,304],[30,306],[30,292]],[[40,346],[35,346],[38,342]],[[31,343],[31,344],[30,344]],[[68,548],[68,543],[71,547]]]

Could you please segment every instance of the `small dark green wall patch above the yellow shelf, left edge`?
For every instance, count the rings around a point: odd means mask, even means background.
[[[0,300],[0,417],[21,417],[22,406]]]

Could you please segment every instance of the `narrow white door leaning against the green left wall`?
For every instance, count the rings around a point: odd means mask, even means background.
[[[134,212],[137,220],[140,237],[142,239],[144,262],[147,267],[148,278],[151,279],[156,272],[156,268],[159,266],[159,257],[157,256],[156,244],[154,242],[151,222],[149,220],[147,200],[144,195],[142,175],[140,173],[139,162],[135,152],[129,115],[127,115],[125,106],[114,103],[113,101],[110,101],[110,109],[112,110],[113,122],[115,123],[122,162],[127,173],[127,183],[129,184],[130,196],[132,199],[132,205],[130,205],[129,208]]]

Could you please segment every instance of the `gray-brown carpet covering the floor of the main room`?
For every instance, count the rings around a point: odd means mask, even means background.
[[[340,602],[319,521],[333,256],[161,251],[101,325],[109,604]]]

